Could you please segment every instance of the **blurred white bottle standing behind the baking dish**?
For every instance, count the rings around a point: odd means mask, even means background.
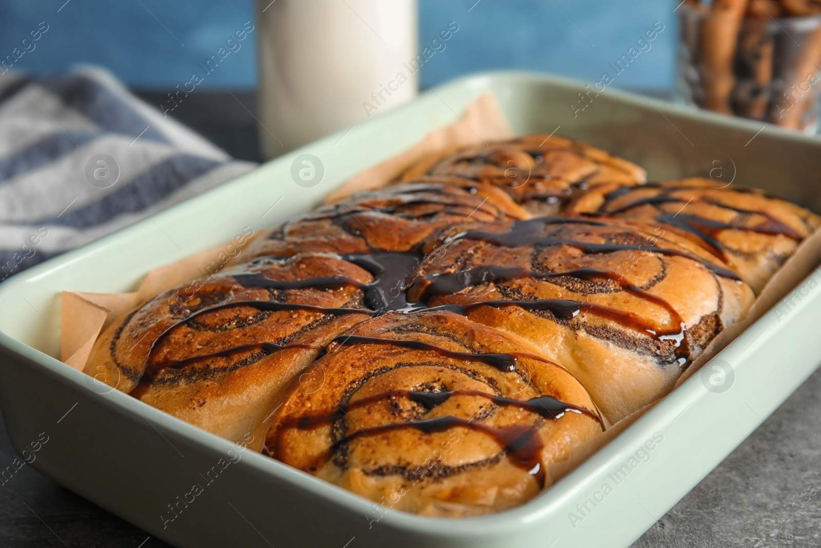
[[[257,0],[256,6],[264,158],[415,97],[416,74],[402,63],[417,53],[416,0]]]

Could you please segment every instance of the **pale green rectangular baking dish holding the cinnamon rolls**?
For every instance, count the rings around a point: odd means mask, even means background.
[[[245,227],[289,219],[363,168],[458,121],[465,105],[487,91],[517,134],[557,131],[640,163],[651,180],[709,175],[717,186],[744,182],[821,210],[814,188],[821,140],[640,95],[596,95],[547,76],[466,77],[2,283],[0,408],[16,450],[45,433],[48,444],[32,466],[181,547],[629,546],[821,361],[813,333],[821,321],[817,271],[555,486],[516,509],[459,521],[382,509],[56,359],[61,291],[126,291],[149,270],[231,240]],[[314,187],[291,177],[302,154],[323,165]],[[705,375],[716,371],[723,375],[718,388]],[[203,488],[192,494],[195,484]]]

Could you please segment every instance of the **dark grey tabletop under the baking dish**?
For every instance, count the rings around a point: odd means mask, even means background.
[[[165,92],[139,95],[158,105]],[[173,113],[181,122],[236,158],[259,161],[255,120],[245,110],[254,111],[253,94],[202,92],[181,107]],[[15,457],[3,427],[0,463]],[[170,545],[24,466],[0,486],[0,547],[30,546]],[[821,546],[821,371],[633,546]]]

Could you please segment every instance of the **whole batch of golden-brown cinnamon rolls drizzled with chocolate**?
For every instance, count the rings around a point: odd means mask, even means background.
[[[116,318],[85,372],[385,508],[492,513],[667,394],[821,224],[557,136],[425,161]]]

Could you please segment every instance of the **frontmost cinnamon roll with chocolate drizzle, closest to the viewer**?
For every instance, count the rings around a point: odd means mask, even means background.
[[[393,312],[328,346],[266,445],[385,508],[464,517],[530,500],[601,431],[585,389],[524,339],[449,312]]]

